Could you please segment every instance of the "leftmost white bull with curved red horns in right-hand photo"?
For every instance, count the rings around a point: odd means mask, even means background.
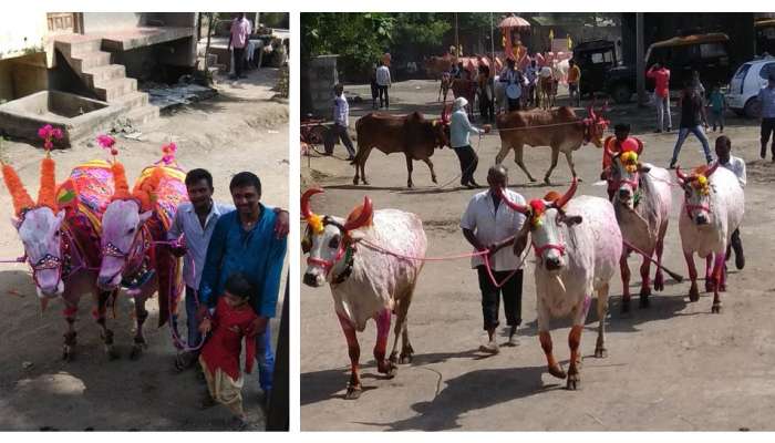
[[[395,209],[374,212],[369,197],[347,219],[317,215],[310,209],[310,197],[318,193],[322,190],[309,189],[301,197],[301,214],[307,219],[302,249],[309,253],[303,281],[311,287],[326,282],[331,287],[334,311],[348,341],[352,372],[345,399],[352,400],[361,394],[355,331],[362,332],[369,319],[376,321],[374,359],[380,373],[395,375],[399,336],[401,363],[412,359],[406,313],[423,261],[409,257],[424,257],[427,240],[420,217]],[[394,341],[385,359],[391,313],[396,316]]]

